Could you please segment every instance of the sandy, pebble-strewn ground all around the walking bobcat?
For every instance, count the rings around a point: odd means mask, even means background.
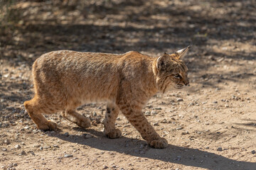
[[[72,4],[73,3],[73,4]],[[256,169],[255,1],[21,1],[0,36],[0,169]],[[157,94],[144,108],[169,142],[146,145],[122,113],[122,137],[102,133],[105,103],[78,112],[85,130],[60,114],[60,132],[41,132],[24,111],[31,65],[51,50],[159,56],[193,45],[191,86]]]

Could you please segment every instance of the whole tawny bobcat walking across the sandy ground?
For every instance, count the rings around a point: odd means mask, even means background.
[[[104,127],[109,138],[121,137],[114,122],[119,111],[140,132],[149,146],[164,148],[160,137],[144,117],[142,108],[158,91],[188,85],[188,68],[181,60],[190,46],[171,55],[149,57],[139,52],[122,55],[60,50],[48,52],[33,63],[35,96],[24,106],[37,128],[57,130],[42,115],[62,111],[63,117],[82,128],[90,120],[75,111],[88,102],[107,101]]]

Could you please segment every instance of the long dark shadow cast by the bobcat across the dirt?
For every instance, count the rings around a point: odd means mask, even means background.
[[[228,159],[219,154],[201,151],[200,149],[178,147],[175,145],[169,145],[166,149],[153,149],[147,147],[144,140],[137,140],[124,136],[119,139],[111,140],[105,137],[102,132],[96,130],[80,130],[80,128],[76,128],[75,130],[90,133],[95,137],[86,138],[84,135],[66,137],[60,133],[53,136],[58,137],[60,140],[105,151],[129,154],[134,157],[158,159],[163,162],[195,166],[203,169],[255,169],[256,167],[256,163],[253,162],[240,162],[234,159]],[[144,147],[142,147],[142,145],[144,145]]]

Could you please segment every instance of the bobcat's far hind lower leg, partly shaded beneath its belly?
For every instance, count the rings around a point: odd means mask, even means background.
[[[63,111],[62,115],[64,118],[70,120],[70,122],[73,122],[82,128],[89,128],[91,126],[89,119],[74,110]]]

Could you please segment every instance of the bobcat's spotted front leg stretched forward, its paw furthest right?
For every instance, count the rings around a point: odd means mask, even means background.
[[[154,128],[144,117],[142,111],[135,111],[125,106],[120,106],[120,109],[129,122],[140,132],[142,138],[148,142],[149,146],[159,149],[168,146],[167,140],[156,133]]]

